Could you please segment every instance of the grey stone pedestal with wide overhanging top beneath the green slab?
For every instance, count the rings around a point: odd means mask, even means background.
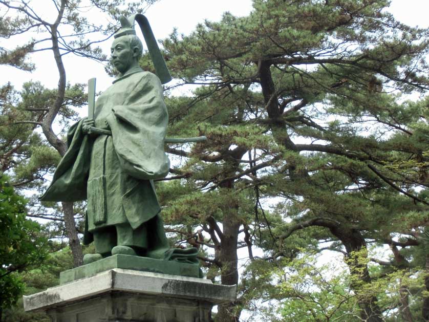
[[[53,322],[208,322],[212,306],[234,300],[235,291],[202,278],[113,268],[24,296],[24,308]]]

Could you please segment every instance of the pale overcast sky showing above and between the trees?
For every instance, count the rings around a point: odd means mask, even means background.
[[[33,3],[48,2],[37,0]],[[179,33],[188,34],[198,23],[209,20],[219,20],[222,13],[229,11],[233,15],[244,16],[252,10],[250,0],[160,0],[149,7],[145,13],[151,23],[155,37],[167,37],[176,27]],[[429,12],[428,0],[393,0],[389,11],[401,22],[419,27],[428,27]],[[11,48],[8,44],[0,44]],[[109,53],[110,41],[103,44],[105,53]],[[23,72],[12,67],[0,66],[0,85],[11,81],[16,89],[30,79],[40,80],[48,88],[55,88],[58,82],[58,72],[53,67],[51,52],[40,52],[32,55],[31,60],[37,69],[32,72]],[[87,82],[89,78],[97,77],[97,91],[109,87],[112,79],[104,72],[103,65],[94,60],[67,55],[64,57],[67,78],[70,83]]]

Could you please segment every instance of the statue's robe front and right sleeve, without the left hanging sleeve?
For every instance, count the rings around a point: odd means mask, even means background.
[[[92,146],[88,179],[89,231],[124,222],[136,229],[161,210],[151,179],[168,174],[167,109],[158,77],[137,69],[97,99],[95,126],[112,136]]]

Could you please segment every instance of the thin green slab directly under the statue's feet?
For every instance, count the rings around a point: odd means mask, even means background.
[[[59,284],[70,283],[80,278],[95,276],[106,270],[122,268],[170,275],[199,277],[199,267],[176,261],[155,260],[149,257],[117,254],[91,264],[79,266],[59,275]]]

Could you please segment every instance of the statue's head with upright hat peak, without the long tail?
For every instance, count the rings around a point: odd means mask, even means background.
[[[111,46],[112,62],[119,73],[124,74],[130,68],[138,66],[138,60],[143,52],[143,45],[136,36],[136,31],[128,20],[121,16],[121,29],[114,37]]]

